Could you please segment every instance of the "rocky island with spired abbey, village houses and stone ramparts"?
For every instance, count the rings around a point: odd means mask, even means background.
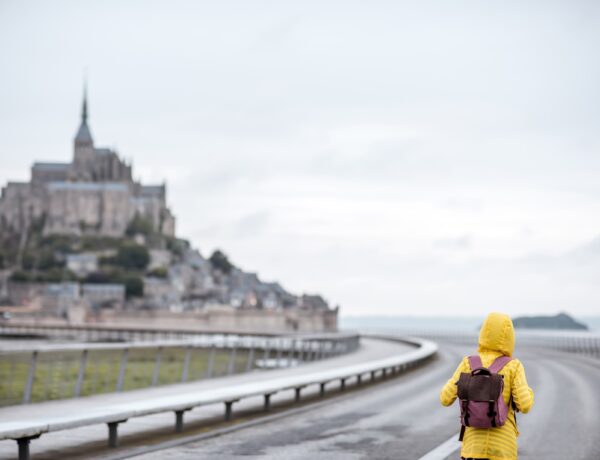
[[[291,293],[177,237],[167,185],[134,177],[131,162],[95,144],[84,96],[72,161],[35,162],[29,181],[1,189],[0,309],[70,324],[337,329],[338,309],[321,295]]]

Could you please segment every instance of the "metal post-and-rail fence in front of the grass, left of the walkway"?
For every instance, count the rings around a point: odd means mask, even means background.
[[[0,406],[289,367],[355,350],[359,336],[198,335],[189,340],[0,350]]]

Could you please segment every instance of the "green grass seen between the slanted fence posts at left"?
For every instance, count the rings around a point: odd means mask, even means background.
[[[215,348],[185,347],[165,348],[161,354],[157,385],[183,381],[186,353],[189,352],[187,382],[207,378],[210,354],[213,356],[212,377],[229,373],[231,351]],[[248,350],[236,350],[233,373],[246,371]],[[262,356],[256,351],[254,359]],[[127,367],[123,391],[152,386],[156,369],[157,349],[131,349],[127,354]],[[81,396],[117,391],[122,350],[91,350],[88,353]],[[31,392],[31,402],[72,398],[75,394],[81,362],[81,352],[47,352],[37,358]],[[0,354],[0,406],[20,404],[30,371],[31,353]]]

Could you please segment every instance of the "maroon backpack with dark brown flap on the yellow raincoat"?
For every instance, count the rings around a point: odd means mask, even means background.
[[[485,368],[478,355],[469,356],[471,372],[461,373],[457,382],[462,424],[459,441],[462,441],[467,426],[495,428],[506,422],[508,406],[502,397],[504,376],[498,372],[511,359],[500,356],[489,368]]]

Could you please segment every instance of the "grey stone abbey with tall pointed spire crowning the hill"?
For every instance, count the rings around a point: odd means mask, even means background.
[[[34,163],[29,182],[9,182],[2,189],[0,230],[24,233],[41,219],[47,235],[119,237],[141,216],[155,232],[174,236],[166,186],[134,181],[131,165],[117,152],[94,145],[87,106],[84,94],[71,163]]]

